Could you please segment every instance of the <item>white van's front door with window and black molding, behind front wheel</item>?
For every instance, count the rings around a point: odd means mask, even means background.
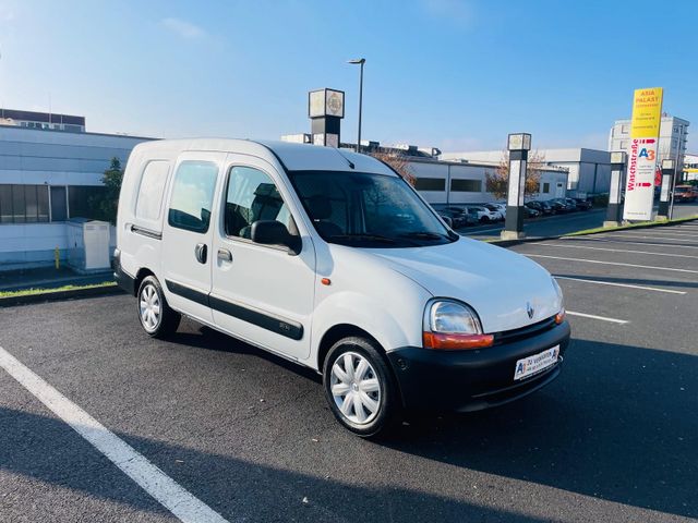
[[[273,166],[229,155],[212,251],[214,321],[287,357],[310,354],[315,251],[292,193]],[[298,255],[250,239],[257,220],[276,220],[302,238]]]

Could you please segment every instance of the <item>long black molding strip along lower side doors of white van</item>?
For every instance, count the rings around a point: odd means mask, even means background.
[[[237,303],[212,296],[204,292],[191,289],[171,280],[165,280],[167,289],[186,300],[205,305],[233,318],[242,319],[248,324],[256,325],[263,329],[270,330],[277,335],[281,335],[291,340],[300,340],[303,338],[303,326],[298,321],[279,318],[270,314],[262,313],[253,308],[245,307]]]

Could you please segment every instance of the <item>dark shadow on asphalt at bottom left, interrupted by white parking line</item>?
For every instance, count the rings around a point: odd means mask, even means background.
[[[163,507],[61,421],[0,408],[0,472],[166,514]],[[350,485],[336,478],[117,435],[230,521],[544,521],[423,491]],[[304,497],[308,503],[303,503]],[[8,498],[0,499],[0,514],[7,514],[7,501]],[[12,510],[21,511],[17,507]],[[46,508],[47,513],[55,510]]]

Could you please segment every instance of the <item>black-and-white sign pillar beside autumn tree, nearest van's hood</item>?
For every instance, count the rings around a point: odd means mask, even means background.
[[[531,135],[528,133],[509,134],[509,184],[506,198],[506,221],[502,240],[520,240],[524,232],[524,194],[526,192],[526,167],[528,151],[531,149]]]

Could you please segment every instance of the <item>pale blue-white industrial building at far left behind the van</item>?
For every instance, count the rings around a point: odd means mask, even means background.
[[[39,124],[49,118],[33,114]],[[17,119],[0,124],[0,270],[50,265],[57,247],[65,259],[68,220],[93,218],[86,216],[89,197],[101,190],[111,158],[125,166],[131,149],[151,139],[86,133],[84,119],[83,129],[55,129],[53,122],[65,121],[81,126],[74,118],[82,117],[63,117],[51,114],[51,126]]]

